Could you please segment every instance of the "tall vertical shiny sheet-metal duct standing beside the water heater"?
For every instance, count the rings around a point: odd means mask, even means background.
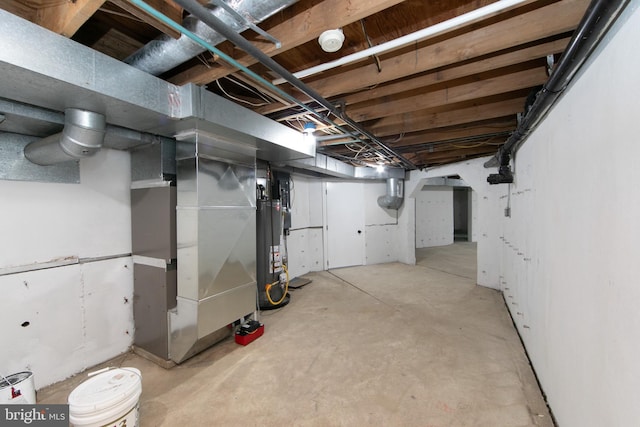
[[[208,148],[196,135],[180,144],[176,162],[178,296],[169,341],[178,363],[256,307],[255,159],[229,163]]]

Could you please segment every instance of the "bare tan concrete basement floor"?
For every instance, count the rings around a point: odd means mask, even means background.
[[[135,354],[102,366],[142,371],[143,427],[552,426],[501,294],[475,286],[475,246],[418,258],[309,274],[246,347],[229,338],[171,370]]]

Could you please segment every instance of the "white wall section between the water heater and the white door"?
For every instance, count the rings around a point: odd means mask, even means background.
[[[320,180],[292,176],[291,232],[287,237],[292,278],[323,269],[322,200]]]

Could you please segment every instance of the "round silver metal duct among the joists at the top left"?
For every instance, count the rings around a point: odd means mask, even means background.
[[[236,12],[244,16],[249,23],[258,23],[282,9],[291,6],[296,1],[297,0],[235,0],[229,3],[230,6],[233,6]],[[210,4],[207,8],[212,16],[224,22],[237,33],[241,33],[249,28],[249,23],[238,22],[239,20],[236,17],[221,7]],[[224,36],[192,15],[184,19],[182,26],[212,46],[225,40]],[[163,34],[129,56],[124,62],[139,70],[157,76],[200,55],[205,50],[205,48],[184,34],[178,39]]]

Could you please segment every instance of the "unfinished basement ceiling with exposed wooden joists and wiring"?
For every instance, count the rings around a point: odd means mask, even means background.
[[[229,0],[237,8],[248,0]],[[171,0],[148,0],[171,20],[189,13]],[[201,3],[205,3],[201,1]],[[257,2],[260,4],[261,2]],[[281,4],[265,0],[262,3]],[[431,27],[481,7],[487,0],[299,0],[258,26],[281,47],[248,29],[242,36],[295,73]],[[500,3],[500,2],[498,2]],[[316,123],[318,152],[352,163],[403,166],[379,149],[381,142],[416,168],[494,154],[515,129],[527,96],[547,81],[550,64],[567,47],[587,0],[523,1],[505,12],[435,37],[367,56],[302,78],[357,122],[371,140],[343,135],[344,121],[319,119],[326,109],[289,83],[279,89],[300,105],[205,51],[159,77],[177,85],[195,83],[246,108],[302,130]],[[4,0],[0,8],[97,51],[124,61],[163,33],[179,34],[129,0]],[[328,53],[318,37],[341,28],[341,49]],[[216,46],[272,82],[280,76],[229,41]],[[362,142],[364,141],[364,144]],[[404,165],[406,166],[406,164]]]

